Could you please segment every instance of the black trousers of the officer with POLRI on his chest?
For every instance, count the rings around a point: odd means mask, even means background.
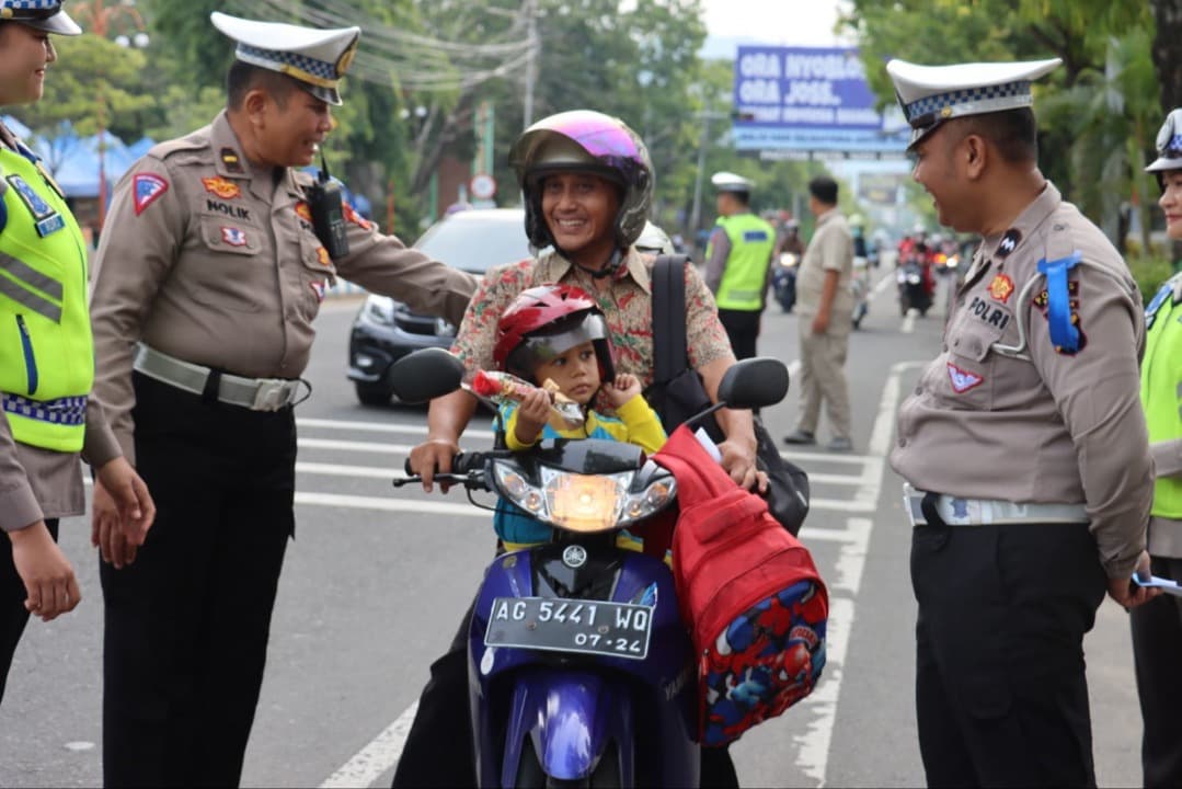
[[[930,787],[1095,787],[1086,524],[916,526],[916,714]]]

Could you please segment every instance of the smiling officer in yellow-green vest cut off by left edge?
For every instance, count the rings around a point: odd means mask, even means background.
[[[39,101],[51,37],[79,33],[57,0],[0,0],[0,106]],[[85,250],[61,189],[0,123],[0,700],[30,614],[47,622],[82,600],[57,545],[59,519],[85,512],[79,455],[115,497],[111,539],[142,544],[156,512],[90,396]]]

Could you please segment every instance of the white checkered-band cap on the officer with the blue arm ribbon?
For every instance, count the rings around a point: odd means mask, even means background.
[[[886,64],[886,73],[895,83],[898,104],[911,125],[908,149],[950,118],[1030,106],[1034,103],[1031,82],[1060,63],[1059,58],[1051,58],[921,66],[891,60]]]

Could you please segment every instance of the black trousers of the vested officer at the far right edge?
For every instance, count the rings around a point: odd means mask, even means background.
[[[1182,558],[1152,558],[1154,575],[1182,578]],[[1141,697],[1144,787],[1182,785],[1182,599],[1162,595],[1130,613]]]

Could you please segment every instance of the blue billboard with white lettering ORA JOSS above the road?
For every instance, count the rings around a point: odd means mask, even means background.
[[[852,47],[740,46],[734,110],[736,150],[903,156],[910,137],[875,110]]]

